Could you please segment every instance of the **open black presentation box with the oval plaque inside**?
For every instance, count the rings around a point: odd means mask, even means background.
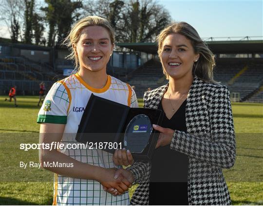
[[[149,161],[159,133],[152,124],[161,125],[163,115],[161,110],[131,108],[91,94],[75,140],[83,144],[117,143],[129,149],[134,160]],[[102,150],[113,154],[115,149],[105,146]]]

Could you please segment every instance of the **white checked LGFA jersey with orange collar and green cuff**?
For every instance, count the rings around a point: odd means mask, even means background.
[[[48,92],[44,104],[38,112],[38,123],[65,124],[61,143],[78,143],[75,134],[78,130],[84,109],[91,94],[109,99],[130,107],[138,107],[131,86],[108,75],[104,88],[95,89],[86,84],[78,75],[71,75],[56,82]],[[77,161],[91,165],[114,168],[113,154],[102,150],[76,149],[59,150]],[[129,205],[129,194],[125,192],[114,197],[103,190],[94,180],[64,177],[55,174],[53,205]]]

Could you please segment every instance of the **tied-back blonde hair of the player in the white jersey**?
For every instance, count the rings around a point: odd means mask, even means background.
[[[66,45],[71,52],[70,55],[68,55],[66,58],[75,60],[74,65],[76,72],[79,70],[79,62],[77,56],[75,55],[73,44],[76,44],[78,42],[81,31],[87,26],[104,27],[109,32],[111,43],[114,44],[115,41],[113,28],[107,19],[98,16],[88,16],[76,21],[75,24],[73,24],[69,35],[64,39],[62,43]]]

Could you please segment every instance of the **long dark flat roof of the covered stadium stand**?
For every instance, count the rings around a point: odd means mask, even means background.
[[[263,54],[263,40],[207,41],[207,45],[214,54]],[[157,54],[156,42],[117,43],[117,46]]]

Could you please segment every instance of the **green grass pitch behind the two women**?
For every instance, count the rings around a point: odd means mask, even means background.
[[[38,150],[19,150],[19,142],[38,143],[38,96],[18,96],[17,108],[4,98],[0,96],[0,205],[51,205],[53,174],[19,168],[19,160],[38,161]],[[263,205],[263,104],[233,103],[232,110],[237,156],[234,167],[224,170],[232,204]]]

